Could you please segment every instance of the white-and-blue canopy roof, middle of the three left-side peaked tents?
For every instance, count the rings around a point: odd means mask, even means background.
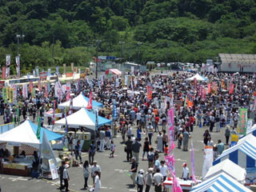
[[[75,112],[74,114],[70,114],[69,116],[65,118],[62,118],[55,122],[55,125],[66,125],[73,126],[78,128],[79,126],[85,126],[91,130],[95,130],[96,125],[96,114],[90,112],[89,110],[86,110],[85,108],[82,108]],[[107,118],[102,118],[101,116],[98,116],[98,126],[102,126],[104,124],[110,123],[111,120]]]

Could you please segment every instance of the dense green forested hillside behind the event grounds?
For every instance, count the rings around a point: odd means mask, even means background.
[[[54,63],[52,42],[55,64],[85,64],[96,39],[100,54],[130,61],[205,62],[220,52],[256,53],[256,1],[1,0],[0,29],[1,65],[17,54],[16,34],[25,34],[26,69]]]

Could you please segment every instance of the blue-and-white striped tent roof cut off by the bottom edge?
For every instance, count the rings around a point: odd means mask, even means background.
[[[231,178],[228,174],[222,173],[207,179],[194,186],[191,192],[249,192],[252,191],[240,182]]]

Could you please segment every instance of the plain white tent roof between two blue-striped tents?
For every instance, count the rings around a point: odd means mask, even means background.
[[[214,177],[216,174],[226,173],[230,177],[234,178],[238,182],[244,182],[246,179],[246,170],[241,166],[238,166],[230,159],[226,159],[223,162],[218,163],[215,166],[211,166],[208,170],[204,180]]]

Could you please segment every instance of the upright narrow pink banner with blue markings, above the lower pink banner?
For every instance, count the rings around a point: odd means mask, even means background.
[[[171,108],[170,110],[168,110],[167,118],[168,118],[169,141],[170,141],[169,150],[168,150],[167,154],[170,154],[170,152],[172,150],[174,150],[174,148],[175,148],[175,144],[174,144],[174,108]]]

